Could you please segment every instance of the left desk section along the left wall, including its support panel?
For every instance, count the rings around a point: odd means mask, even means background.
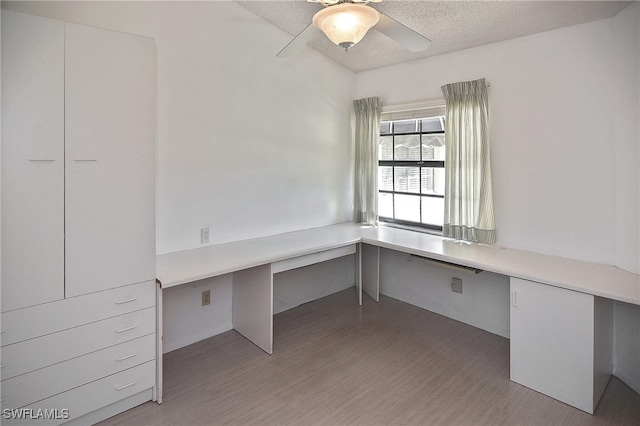
[[[156,271],[163,289],[233,273],[233,328],[271,354],[273,275],[355,254],[359,242],[360,226],[343,223],[163,254]]]

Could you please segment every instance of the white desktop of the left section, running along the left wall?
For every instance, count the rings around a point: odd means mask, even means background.
[[[360,242],[360,225],[341,223],[157,256],[162,288]]]

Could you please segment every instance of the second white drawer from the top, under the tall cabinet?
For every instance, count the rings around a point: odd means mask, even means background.
[[[155,330],[156,309],[147,308],[4,346],[0,349],[2,379],[6,380],[138,337],[155,334]]]

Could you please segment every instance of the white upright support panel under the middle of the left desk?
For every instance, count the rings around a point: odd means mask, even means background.
[[[233,273],[233,328],[268,354],[273,353],[271,264]]]

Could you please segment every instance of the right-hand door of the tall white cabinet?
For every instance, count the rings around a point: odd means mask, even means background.
[[[66,24],[66,296],[155,278],[153,39]]]

